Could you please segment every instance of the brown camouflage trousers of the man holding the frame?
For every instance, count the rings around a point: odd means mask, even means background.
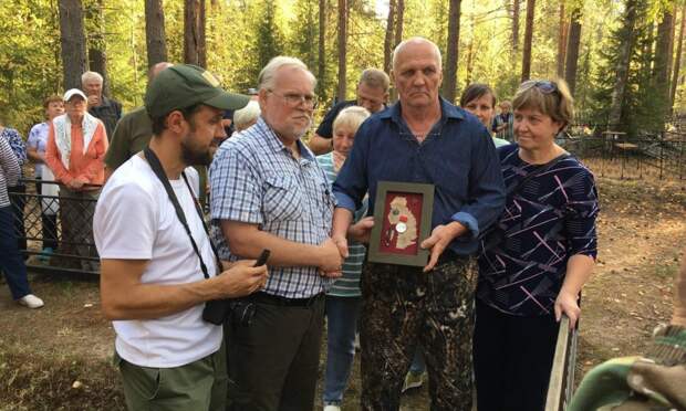
[[[362,409],[398,410],[417,345],[424,348],[432,410],[470,411],[475,257],[433,272],[368,263],[362,274]]]

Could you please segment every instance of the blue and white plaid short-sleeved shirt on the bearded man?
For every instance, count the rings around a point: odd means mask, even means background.
[[[303,244],[320,244],[331,232],[334,199],[324,171],[300,140],[301,158],[260,117],[219,147],[210,166],[212,241],[225,260],[236,261],[220,220],[257,224],[262,231]],[[264,292],[305,298],[332,281],[315,266],[271,267]]]

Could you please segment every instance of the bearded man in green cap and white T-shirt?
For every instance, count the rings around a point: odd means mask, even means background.
[[[267,267],[246,260],[224,270],[188,166],[209,162],[211,141],[226,136],[224,112],[247,103],[200,67],[165,68],[145,96],[149,146],[114,171],[100,197],[102,306],[129,410],[226,409],[221,315],[205,320],[206,303],[261,289]]]

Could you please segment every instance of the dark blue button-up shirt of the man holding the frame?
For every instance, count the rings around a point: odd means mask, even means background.
[[[399,103],[365,120],[333,192],[339,207],[354,212],[368,190],[372,214],[378,181],[432,183],[432,229],[453,221],[466,225],[469,234],[449,247],[474,254],[479,232],[505,205],[500,162],[492,138],[475,116],[443,98],[440,110],[440,120],[422,144],[403,120]]]

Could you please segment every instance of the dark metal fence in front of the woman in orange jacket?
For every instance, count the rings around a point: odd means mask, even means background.
[[[19,249],[34,272],[97,274],[93,213],[98,186],[72,192],[54,181],[23,180],[10,192]]]

